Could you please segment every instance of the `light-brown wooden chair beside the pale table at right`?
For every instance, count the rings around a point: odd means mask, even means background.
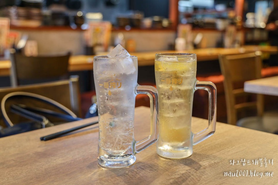
[[[262,60],[260,54],[220,55],[219,62],[224,76],[228,123],[236,125],[238,111],[245,108],[255,107],[258,116],[262,116],[264,109],[262,95],[256,95],[256,100],[252,101],[248,101],[247,98],[244,98],[244,102],[238,103],[237,101],[239,97],[250,95],[250,93],[243,91],[245,81],[261,78]]]

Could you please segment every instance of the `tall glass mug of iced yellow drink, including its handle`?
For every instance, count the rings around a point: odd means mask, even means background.
[[[155,55],[155,80],[159,100],[159,138],[157,154],[171,159],[189,157],[193,145],[208,138],[216,126],[216,87],[212,82],[196,80],[196,54],[172,53]],[[209,93],[208,127],[191,132],[193,93]]]

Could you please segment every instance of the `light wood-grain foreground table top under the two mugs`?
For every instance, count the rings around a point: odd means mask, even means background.
[[[53,140],[39,140],[41,136],[96,119],[96,117],[89,118],[0,138],[0,184],[277,184],[278,182],[278,135],[223,123],[217,123],[215,134],[195,145],[193,155],[187,159],[171,160],[159,157],[153,144],[136,154],[137,160],[133,166],[124,169],[104,169],[98,166],[97,125]],[[135,139],[148,136],[150,109],[136,108],[134,122]],[[200,118],[193,117],[192,122],[193,132],[207,125],[207,120]],[[264,158],[271,161],[273,159],[273,165],[268,164],[265,167],[263,163],[261,167],[260,162],[255,165],[256,159],[259,161],[260,158],[263,162]],[[240,162],[241,159],[245,159],[245,166]],[[230,161],[233,160],[235,163],[231,165]],[[224,176],[225,172],[236,173],[237,170],[235,177]],[[242,176],[243,170],[245,176]],[[256,176],[250,176],[254,172]],[[272,176],[266,176],[265,172],[270,172]]]

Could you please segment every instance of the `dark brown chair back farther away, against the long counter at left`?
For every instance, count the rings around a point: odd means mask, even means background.
[[[11,49],[11,85],[22,85],[22,80],[49,80],[68,78],[68,60],[71,53],[60,56],[27,57]]]

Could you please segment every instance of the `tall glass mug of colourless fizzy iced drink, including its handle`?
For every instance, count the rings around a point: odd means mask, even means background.
[[[157,90],[137,84],[137,57],[94,57],[94,82],[98,104],[98,163],[102,167],[132,165],[135,154],[156,142]],[[151,101],[151,134],[134,140],[134,107],[137,94],[147,94]]]

